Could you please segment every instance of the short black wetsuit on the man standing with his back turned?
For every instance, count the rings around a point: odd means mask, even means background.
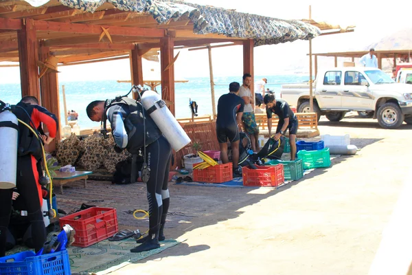
[[[238,122],[236,114],[242,113],[244,100],[236,94],[229,93],[220,96],[218,101],[218,118],[216,119],[216,134],[218,142],[225,143],[239,140]]]

